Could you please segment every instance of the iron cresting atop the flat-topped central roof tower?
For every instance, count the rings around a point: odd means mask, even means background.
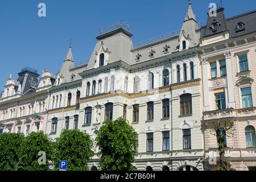
[[[117,30],[119,28],[123,28],[128,32],[131,32],[131,26],[127,23],[124,22],[123,20],[119,20],[119,22],[116,22],[114,24],[111,24],[110,26],[104,27],[104,28],[99,28],[98,30],[98,35],[104,35],[109,32],[112,32],[114,30]]]

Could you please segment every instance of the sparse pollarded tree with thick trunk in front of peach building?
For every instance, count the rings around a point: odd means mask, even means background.
[[[217,138],[218,153],[220,154],[220,161],[218,171],[229,171],[230,165],[228,160],[225,159],[225,138],[233,137],[234,135],[234,122],[233,121],[216,121],[212,122],[210,127]]]

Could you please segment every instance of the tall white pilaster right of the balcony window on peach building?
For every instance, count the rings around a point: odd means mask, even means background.
[[[234,81],[231,52],[226,52],[224,53],[224,55],[226,57],[226,84],[228,85],[228,108],[236,108],[236,102],[234,97]]]

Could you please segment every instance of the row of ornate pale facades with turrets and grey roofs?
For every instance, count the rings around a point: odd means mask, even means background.
[[[154,40],[133,44],[125,22],[102,28],[88,63],[76,65],[69,46],[56,76],[24,70],[8,78],[0,128],[43,130],[52,139],[79,129],[95,139],[106,120],[123,117],[138,133],[134,167],[195,171],[215,167],[209,124],[229,119],[236,131],[226,139],[226,156],[234,169],[254,169],[255,16],[226,19],[218,9],[199,27],[189,1],[181,30]],[[99,168],[94,152],[91,170]]]

